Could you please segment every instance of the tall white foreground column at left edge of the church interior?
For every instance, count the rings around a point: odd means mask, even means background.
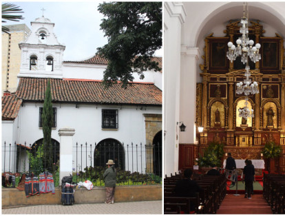
[[[186,12],[179,2],[164,3],[164,171],[167,176],[178,171],[178,126],[180,100],[181,25]]]

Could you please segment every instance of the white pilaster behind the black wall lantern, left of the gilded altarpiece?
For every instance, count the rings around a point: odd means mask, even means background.
[[[180,143],[193,144],[196,141],[196,67],[199,49],[181,46],[180,73],[180,122],[186,126],[180,132]]]

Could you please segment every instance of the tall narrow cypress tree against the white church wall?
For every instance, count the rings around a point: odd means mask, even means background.
[[[52,93],[50,91],[50,80],[47,80],[47,89],[45,90],[45,100],[43,102],[43,152],[45,158],[45,167],[52,169]]]

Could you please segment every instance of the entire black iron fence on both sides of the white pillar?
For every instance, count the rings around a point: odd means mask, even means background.
[[[42,149],[50,155],[49,165],[39,153],[39,144],[4,144],[2,145],[2,173],[54,173],[54,180],[59,181],[59,143],[53,142],[51,148]],[[29,156],[30,155],[30,156]],[[119,185],[161,184],[162,147],[154,144],[120,144],[113,139],[106,139],[98,144],[78,144],[73,147],[73,182],[90,180],[94,186],[103,186],[103,173],[107,161],[113,160]]]

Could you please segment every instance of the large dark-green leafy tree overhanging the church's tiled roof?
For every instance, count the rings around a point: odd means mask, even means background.
[[[161,69],[153,58],[162,47],[161,2],[101,3],[98,10],[105,16],[100,26],[108,39],[97,52],[108,61],[103,78],[106,87],[118,81],[127,87],[134,72],[142,79],[147,69]]]

